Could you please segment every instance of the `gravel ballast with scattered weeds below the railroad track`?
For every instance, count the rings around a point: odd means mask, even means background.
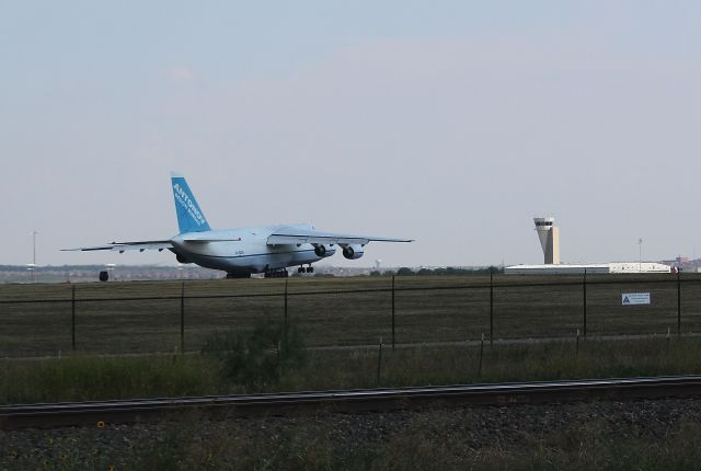
[[[0,430],[0,469],[655,467],[698,459],[700,423],[697,399],[248,420],[187,414]]]

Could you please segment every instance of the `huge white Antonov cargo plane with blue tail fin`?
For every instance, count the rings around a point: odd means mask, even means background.
[[[268,277],[313,273],[314,262],[330,257],[341,248],[348,260],[360,259],[369,242],[413,242],[411,239],[380,238],[318,232],[309,223],[260,228],[212,230],[182,174],[171,172],[175,214],[180,233],[168,240],[112,242],[104,245],[62,249],[64,251],[118,251],[168,249],[180,263],[227,272],[227,278],[250,278],[263,273]],[[304,266],[307,265],[307,266]]]

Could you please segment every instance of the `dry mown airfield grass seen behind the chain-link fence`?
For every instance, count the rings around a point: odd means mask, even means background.
[[[491,320],[494,338],[574,336],[585,322],[585,287],[572,276],[501,275],[492,289],[489,276],[397,277],[394,294],[390,277],[0,285],[0,356],[71,352],[73,306],[79,353],[174,352],[183,289],[185,351],[286,312],[310,346],[389,344],[392,299],[398,344],[490,338]],[[652,303],[621,306],[622,292],[651,292]],[[696,274],[587,278],[589,336],[676,333],[679,308],[681,332],[701,332]]]

